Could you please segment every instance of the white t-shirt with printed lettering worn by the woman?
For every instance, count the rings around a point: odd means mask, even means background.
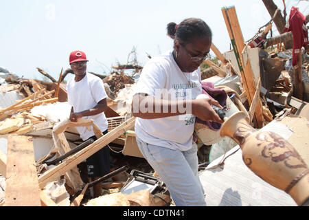
[[[192,73],[182,72],[174,61],[172,51],[156,56],[146,63],[141,72],[134,94],[139,93],[165,100],[194,100],[202,93],[201,69],[198,67]],[[187,151],[192,148],[194,122],[192,114],[157,119],[136,118],[135,134],[148,144]]]

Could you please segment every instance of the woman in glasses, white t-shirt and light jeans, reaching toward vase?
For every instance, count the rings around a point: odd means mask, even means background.
[[[222,123],[211,107],[221,107],[216,100],[196,99],[202,94],[199,66],[209,53],[211,30],[201,19],[167,28],[174,50],[146,63],[133,96],[137,144],[176,206],[205,206],[192,135],[195,117]]]

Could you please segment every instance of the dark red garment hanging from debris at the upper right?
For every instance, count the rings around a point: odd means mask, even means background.
[[[290,10],[290,17],[284,28],[284,32],[293,34],[293,66],[297,65],[297,57],[301,47],[308,45],[308,30],[306,17],[294,6]]]

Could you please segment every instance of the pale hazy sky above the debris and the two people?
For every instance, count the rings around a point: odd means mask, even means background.
[[[274,2],[283,10],[282,0]],[[271,19],[262,0],[1,1],[0,66],[42,80],[36,69],[40,67],[58,80],[61,68],[69,68],[70,52],[83,50],[88,71],[108,74],[112,65],[126,64],[133,47],[139,65],[144,65],[147,54],[172,49],[166,25],[188,17],[209,25],[213,43],[223,53],[229,50],[230,39],[221,8],[231,5],[245,41]],[[308,1],[286,0],[288,14],[293,5],[305,16],[309,13]],[[278,34],[275,26],[273,34]]]

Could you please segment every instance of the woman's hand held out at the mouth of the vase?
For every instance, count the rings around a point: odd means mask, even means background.
[[[192,114],[204,121],[223,123],[223,120],[221,120],[216,111],[214,111],[211,104],[222,109],[219,102],[211,98],[192,100]]]

